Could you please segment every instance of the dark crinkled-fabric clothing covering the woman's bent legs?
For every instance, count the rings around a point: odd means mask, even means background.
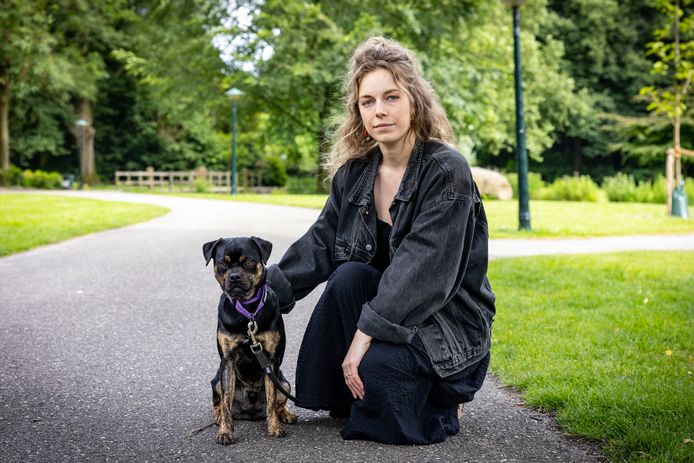
[[[440,378],[415,335],[409,345],[374,340],[359,366],[365,394],[354,400],[342,361],[357,330],[362,305],[376,295],[381,273],[347,262],[331,275],[306,328],[296,370],[297,405],[347,417],[344,439],[388,444],[432,444],[459,431],[457,404],[482,386],[489,355]]]

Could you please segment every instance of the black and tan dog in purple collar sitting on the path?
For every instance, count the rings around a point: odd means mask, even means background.
[[[214,276],[223,292],[217,311],[220,362],[211,381],[213,413],[219,425],[215,441],[234,442],[234,419],[266,418],[268,434],[284,437],[280,421],[296,423],[296,415],[251,350],[253,342],[260,342],[272,371],[291,391],[280,371],[286,346],[284,323],[277,296],[266,285],[265,264],[272,243],[257,237],[219,238],[205,243],[202,252],[205,265],[214,260]],[[251,319],[257,326],[253,336]]]

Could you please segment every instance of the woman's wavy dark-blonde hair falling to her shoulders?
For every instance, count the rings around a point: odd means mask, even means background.
[[[423,140],[436,139],[453,144],[453,133],[446,113],[434,89],[424,79],[417,59],[410,50],[394,40],[371,37],[352,55],[344,80],[345,119],[333,134],[332,150],[323,164],[332,177],[350,159],[366,157],[376,146],[359,113],[359,85],[364,76],[377,69],[386,69],[396,85],[407,94],[414,111],[410,130]]]

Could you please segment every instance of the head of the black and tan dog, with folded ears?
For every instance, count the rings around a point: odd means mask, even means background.
[[[272,243],[262,238],[219,238],[202,245],[205,265],[214,260],[214,276],[229,297],[244,301],[265,283]]]

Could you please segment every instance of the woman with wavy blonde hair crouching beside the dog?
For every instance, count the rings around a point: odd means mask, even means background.
[[[348,417],[344,439],[440,442],[489,364],[486,216],[410,51],[361,45],[346,112],[326,205],[269,269],[285,313],[328,281],[299,352],[297,405]]]

